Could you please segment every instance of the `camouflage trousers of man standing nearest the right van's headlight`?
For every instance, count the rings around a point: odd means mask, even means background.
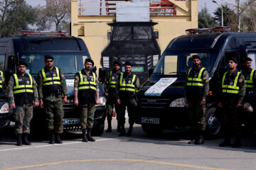
[[[203,133],[206,130],[206,106],[201,100],[188,99],[188,114],[194,132]]]

